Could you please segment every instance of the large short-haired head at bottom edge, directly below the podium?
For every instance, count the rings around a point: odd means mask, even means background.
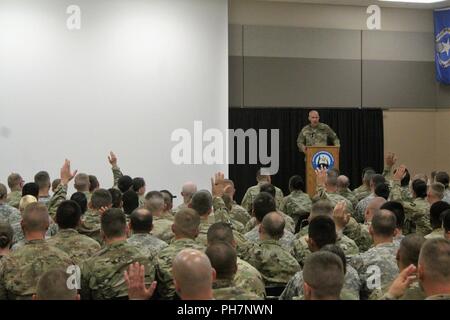
[[[339,300],[344,286],[342,260],[327,251],[314,252],[303,267],[305,300]]]

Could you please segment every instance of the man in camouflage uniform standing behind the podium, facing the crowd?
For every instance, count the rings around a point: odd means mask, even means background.
[[[300,131],[297,138],[297,146],[300,152],[306,153],[309,146],[326,146],[328,141],[331,141],[333,146],[340,146],[339,138],[333,129],[319,121],[319,112],[316,110],[310,111],[308,120],[310,124]]]

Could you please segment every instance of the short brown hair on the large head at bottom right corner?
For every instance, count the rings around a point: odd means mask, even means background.
[[[425,241],[419,264],[428,280],[447,284],[450,281],[450,241],[439,238]]]

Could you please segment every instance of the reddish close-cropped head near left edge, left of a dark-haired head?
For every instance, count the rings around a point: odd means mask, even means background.
[[[26,239],[31,235],[44,239],[50,224],[47,206],[39,202],[29,204],[25,208],[20,224]]]

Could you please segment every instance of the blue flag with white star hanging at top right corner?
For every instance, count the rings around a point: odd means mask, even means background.
[[[450,84],[450,8],[434,11],[436,79]]]

